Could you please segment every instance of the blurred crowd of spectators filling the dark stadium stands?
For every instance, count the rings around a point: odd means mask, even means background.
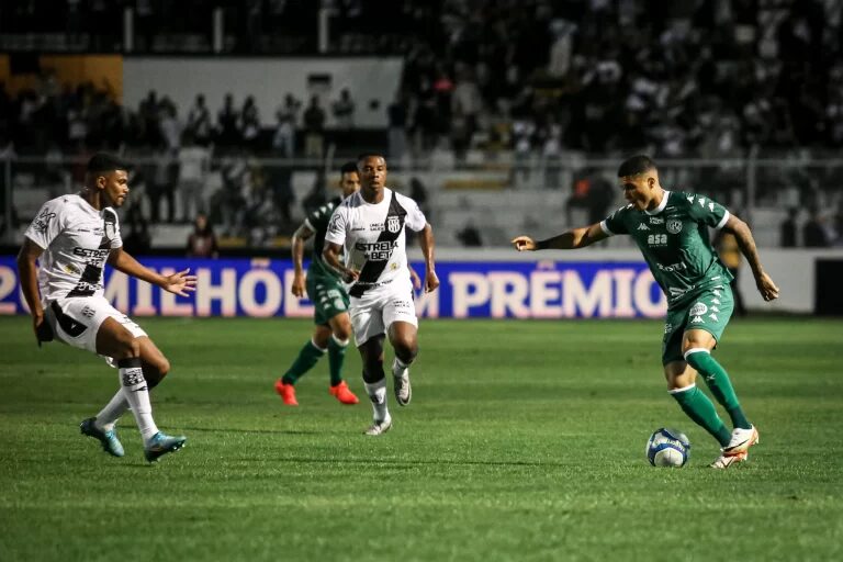
[[[55,2],[0,4],[0,32],[59,30],[88,37],[88,49],[119,50],[120,37],[103,30],[120,30],[114,24],[131,8],[138,22],[136,50],[179,52],[178,42],[161,37],[202,35],[221,8],[237,37],[226,50],[300,54],[315,50],[318,12],[328,9],[331,53],[404,56],[401,87],[384,108],[386,134],[373,137],[383,146],[372,148],[393,162],[443,166],[472,154],[485,161],[505,154],[515,162],[514,184],[537,159],[551,162],[546,180],[552,182],[552,162],[571,153],[614,158],[645,150],[659,159],[717,160],[754,149],[762,157],[803,158],[833,155],[843,144],[843,2],[836,0],[47,4]],[[180,18],[182,12],[194,16]],[[310,40],[279,43],[271,41],[276,35]],[[255,216],[289,218],[292,203],[289,170],[262,170],[252,157],[316,160],[328,142],[353,154],[359,136],[339,133],[357,131],[356,99],[363,93],[299,100],[280,92],[274,115],[260,115],[249,97],[209,108],[200,92],[190,108],[155,91],[139,106],[125,108],[106,86],[66,87],[46,69],[37,88],[15,97],[0,83],[0,157],[81,160],[99,148],[130,153],[150,162],[139,170],[150,220],[186,222],[209,212],[217,224],[241,231],[238,225],[255,223]],[[335,126],[327,130],[329,117]],[[212,167],[231,189],[201,193]],[[742,181],[741,171],[728,166],[706,173],[715,184]],[[800,193],[811,193],[836,189],[843,167],[802,179],[807,186],[794,173],[761,180],[765,189],[796,183]],[[159,202],[171,203],[177,194],[171,186],[179,186],[182,204],[169,204],[161,217]]]

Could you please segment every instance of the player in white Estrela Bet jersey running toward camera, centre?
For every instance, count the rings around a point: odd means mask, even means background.
[[[395,350],[392,363],[395,400],[406,406],[413,396],[409,364],[418,353],[418,319],[407,268],[405,228],[420,232],[425,258],[425,292],[439,286],[434,268],[434,231],[415,201],[385,187],[386,160],[379,154],[357,160],[360,191],[337,206],[325,234],[323,257],[346,283],[351,301],[355,341],[363,361],[366,392],[374,411],[366,435],[392,427],[386,407],[383,340]],[[339,254],[345,247],[345,262]]]

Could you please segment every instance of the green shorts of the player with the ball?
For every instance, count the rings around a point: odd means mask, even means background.
[[[715,285],[694,293],[684,304],[667,308],[662,340],[662,364],[684,361],[682,337],[686,330],[704,329],[720,341],[734,310],[732,290],[728,284]]]

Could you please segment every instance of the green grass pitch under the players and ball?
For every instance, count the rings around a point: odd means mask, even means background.
[[[117,385],[90,353],[0,318],[0,560],[840,560],[843,322],[739,319],[716,357],[761,445],[713,439],[665,392],[659,322],[423,321],[392,431],[328,395],[327,360],[283,407],[305,321],[140,318],[173,364],[156,420],[188,445],[143,460],[79,435]],[[391,355],[387,353],[387,361]],[[701,383],[700,383],[701,384]],[[683,429],[692,460],[644,443]]]

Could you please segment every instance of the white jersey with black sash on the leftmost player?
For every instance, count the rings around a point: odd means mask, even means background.
[[[38,288],[45,300],[102,295],[105,260],[123,246],[117,213],[97,211],[80,195],[44,203],[24,235],[44,249]]]

